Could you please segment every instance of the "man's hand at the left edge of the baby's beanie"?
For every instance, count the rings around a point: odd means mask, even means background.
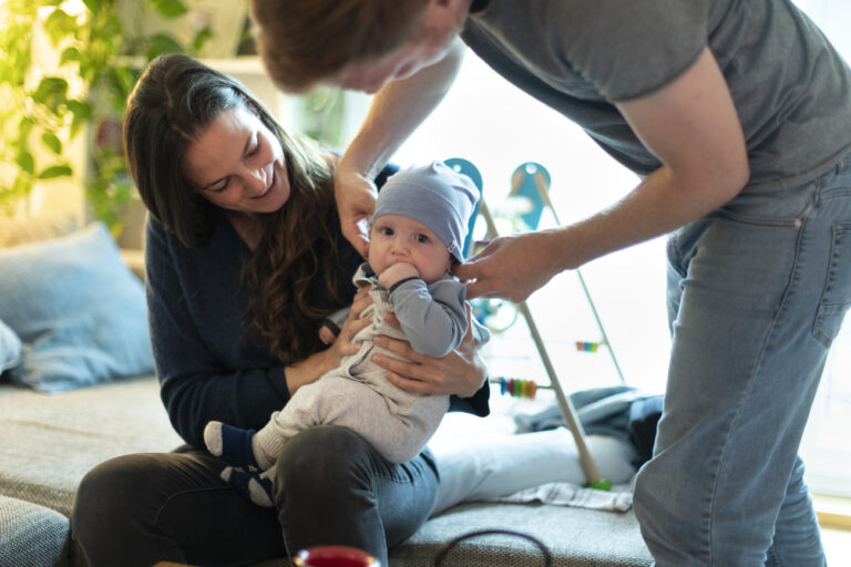
[[[362,256],[369,245],[369,219],[376,212],[376,184],[361,172],[346,167],[342,161],[334,176],[334,196],[340,215],[342,236]]]

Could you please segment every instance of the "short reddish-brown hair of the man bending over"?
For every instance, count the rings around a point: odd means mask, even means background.
[[[252,0],[258,51],[284,91],[305,92],[352,62],[414,38],[428,0]]]

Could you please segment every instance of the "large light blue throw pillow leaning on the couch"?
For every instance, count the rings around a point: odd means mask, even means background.
[[[21,385],[61,392],[154,370],[142,282],[102,224],[0,250],[0,319],[23,355]]]

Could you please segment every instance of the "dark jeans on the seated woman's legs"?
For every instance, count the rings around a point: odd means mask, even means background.
[[[387,548],[426,522],[438,491],[428,451],[392,464],[334,425],[286,445],[276,472],[277,509],[237,494],[218,476],[224,466],[206,451],[107,461],[80,484],[73,537],[92,567],[250,565],[331,544],[366,549],[387,565]]]

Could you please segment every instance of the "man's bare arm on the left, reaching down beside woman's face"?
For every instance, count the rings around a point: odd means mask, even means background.
[[[414,75],[388,83],[372,101],[360,132],[337,164],[335,194],[342,235],[366,257],[369,220],[376,208],[376,178],[408,136],[431,114],[458,75],[464,44]]]

